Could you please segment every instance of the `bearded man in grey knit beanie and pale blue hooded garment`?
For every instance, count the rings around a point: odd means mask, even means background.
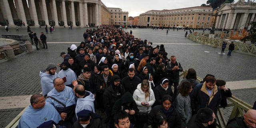
[[[48,92],[50,92],[53,87],[53,80],[54,78],[59,77],[59,75],[56,73],[56,64],[50,63],[46,66],[45,70],[41,70],[39,73],[40,79],[41,79],[41,87],[43,96],[47,96]]]

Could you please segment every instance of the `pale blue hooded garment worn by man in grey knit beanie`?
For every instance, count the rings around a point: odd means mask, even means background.
[[[41,79],[41,87],[43,96],[48,94],[54,87],[53,87],[53,80],[57,77],[59,77],[58,73],[55,72],[54,75],[46,73],[46,70],[42,70],[39,73],[40,79]]]

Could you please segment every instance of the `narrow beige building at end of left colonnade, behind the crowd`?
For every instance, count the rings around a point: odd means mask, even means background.
[[[128,25],[128,12],[121,8],[108,8],[110,10],[110,25]]]

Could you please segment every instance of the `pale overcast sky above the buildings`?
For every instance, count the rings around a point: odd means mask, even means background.
[[[101,0],[108,8],[121,8],[128,16],[139,16],[149,10],[171,10],[206,4],[207,0]],[[234,0],[237,2],[238,0]]]

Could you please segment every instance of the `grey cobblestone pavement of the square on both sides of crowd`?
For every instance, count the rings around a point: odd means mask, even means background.
[[[44,70],[48,63],[62,62],[63,58],[59,57],[60,52],[67,51],[71,46],[69,42],[77,42],[79,45],[84,40],[82,37],[84,28],[56,28],[53,34],[46,34],[48,49],[34,50],[32,53],[21,54],[16,56],[13,61],[0,60],[0,97],[3,96],[23,96],[40,93],[40,70]],[[32,28],[38,35],[44,32],[44,28]],[[127,32],[130,29],[125,30]],[[132,29],[133,34],[142,40],[147,39],[153,42],[153,46],[164,44],[168,58],[176,55],[177,61],[181,63],[183,69],[194,68],[197,75],[204,78],[206,74],[214,74],[217,79],[226,81],[237,80],[254,80],[256,68],[254,56],[232,52],[232,56],[221,55],[218,52],[220,48],[201,45],[184,38],[183,30],[169,31],[152,29]],[[10,29],[10,32],[4,32],[0,29],[0,34],[28,34],[26,29]],[[50,43],[52,42],[52,43]],[[65,43],[54,43],[65,42]],[[208,51],[208,52],[204,52]],[[227,53],[228,50],[225,51]],[[58,69],[59,70],[59,69]],[[58,72],[58,71],[57,71]],[[253,104],[256,100],[255,88],[232,90],[234,96]],[[0,116],[0,127],[5,127],[23,108],[2,109]],[[225,109],[228,113],[232,108]],[[228,117],[227,117],[228,118]]]

